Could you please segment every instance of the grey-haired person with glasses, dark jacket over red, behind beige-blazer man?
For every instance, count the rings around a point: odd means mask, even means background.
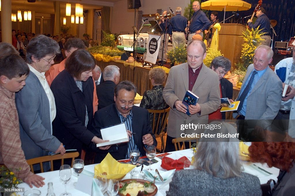
[[[227,72],[230,70],[231,66],[232,66],[231,62],[228,58],[219,56],[212,60],[209,68],[211,68],[213,71],[215,71],[218,74],[220,98],[229,98],[230,102],[233,102],[232,83],[228,81],[227,79],[223,78],[224,75],[227,75]],[[220,112],[221,107],[224,107],[224,106],[220,105],[217,111],[209,114],[209,120],[221,120],[221,119],[225,120],[225,112]]]

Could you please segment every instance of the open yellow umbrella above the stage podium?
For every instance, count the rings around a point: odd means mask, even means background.
[[[201,3],[201,9],[212,11],[245,11],[251,8],[251,4],[242,0],[209,0]]]

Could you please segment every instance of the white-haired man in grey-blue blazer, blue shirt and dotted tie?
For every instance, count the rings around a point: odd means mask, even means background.
[[[240,137],[248,139],[248,130],[254,128],[259,131],[255,140],[264,140],[263,130],[270,130],[273,119],[281,106],[282,81],[268,67],[273,57],[271,47],[260,45],[256,48],[253,64],[249,65],[237,100],[240,105],[233,117],[240,121]],[[239,115],[239,116],[238,116]],[[241,135],[242,134],[242,135]],[[254,139],[254,138],[253,138]]]

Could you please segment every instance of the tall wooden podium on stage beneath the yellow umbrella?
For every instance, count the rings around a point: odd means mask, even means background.
[[[235,69],[235,63],[240,61],[242,44],[245,43],[242,32],[247,29],[242,24],[220,24],[219,31],[219,50],[224,57],[232,62],[232,70]],[[215,30],[215,29],[214,29]]]

